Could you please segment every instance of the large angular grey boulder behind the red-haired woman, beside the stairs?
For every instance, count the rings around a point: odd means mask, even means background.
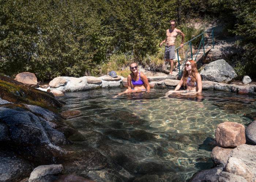
[[[203,80],[220,83],[231,83],[237,77],[235,70],[224,59],[207,64],[200,74]]]

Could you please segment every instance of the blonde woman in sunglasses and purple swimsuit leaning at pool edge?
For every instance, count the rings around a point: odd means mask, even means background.
[[[144,75],[143,72],[140,72],[138,70],[138,64],[132,63],[130,64],[129,67],[130,67],[131,74],[127,76],[128,89],[114,96],[114,98],[123,94],[150,91],[150,85],[148,83],[147,76]]]

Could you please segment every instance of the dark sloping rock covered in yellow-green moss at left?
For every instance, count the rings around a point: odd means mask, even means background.
[[[52,111],[62,106],[53,94],[26,87],[6,76],[0,76],[0,97],[12,103],[36,105]]]

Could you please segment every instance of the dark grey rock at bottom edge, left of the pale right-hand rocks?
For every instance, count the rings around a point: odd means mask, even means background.
[[[214,167],[212,169],[202,170],[193,175],[190,182],[215,182],[218,181],[219,174],[223,167]]]

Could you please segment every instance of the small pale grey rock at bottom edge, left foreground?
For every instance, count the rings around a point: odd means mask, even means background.
[[[60,165],[43,165],[36,167],[29,177],[29,182],[47,182],[52,175],[59,174],[63,170],[63,166]]]

